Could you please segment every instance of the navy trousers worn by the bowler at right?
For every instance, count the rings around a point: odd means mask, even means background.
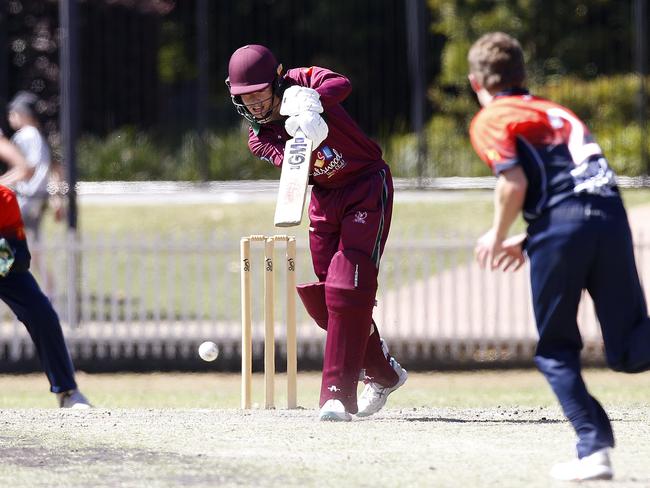
[[[608,365],[650,369],[650,319],[634,262],[632,236],[618,197],[577,196],[529,228],[527,253],[539,331],[535,363],[578,436],[578,456],[614,445],[607,414],[582,379],[576,320],[583,290],[600,322]]]

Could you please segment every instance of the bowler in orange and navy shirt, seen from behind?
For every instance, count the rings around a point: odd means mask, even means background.
[[[587,290],[607,363],[625,373],[650,369],[650,319],[616,176],[573,112],[528,93],[523,59],[519,42],[501,32],[481,37],[468,55],[483,106],[470,137],[498,178],[493,224],[477,242],[476,259],[482,267],[517,269],[525,248],[530,260],[535,363],[578,437],[578,459],[555,465],[551,476],[609,479],[614,435],[581,375],[578,305]],[[520,213],[527,233],[507,238]]]

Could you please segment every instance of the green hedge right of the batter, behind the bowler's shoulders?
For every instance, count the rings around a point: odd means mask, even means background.
[[[650,153],[647,132],[643,137],[637,120],[638,90],[636,75],[600,77],[592,81],[563,77],[532,88],[534,94],[567,106],[585,121],[614,170],[627,176],[647,172],[641,160],[643,144]],[[489,174],[469,143],[469,124],[479,110],[469,87],[435,86],[429,90],[429,100],[435,114],[426,126],[428,157],[423,176]],[[647,116],[650,118],[650,113]],[[417,176],[416,137],[396,135],[385,147],[396,176]]]

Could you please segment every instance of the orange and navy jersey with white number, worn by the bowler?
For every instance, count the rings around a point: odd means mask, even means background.
[[[526,91],[498,94],[472,120],[470,139],[495,174],[522,167],[528,222],[580,193],[618,196],[616,175],[585,124],[567,108]]]

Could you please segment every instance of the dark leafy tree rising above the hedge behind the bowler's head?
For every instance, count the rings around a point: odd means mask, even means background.
[[[429,0],[432,30],[447,42],[442,83],[462,84],[467,50],[500,30],[522,43],[535,82],[632,71],[632,2],[615,0]]]

